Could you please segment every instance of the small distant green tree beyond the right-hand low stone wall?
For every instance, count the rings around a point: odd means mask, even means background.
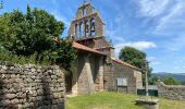
[[[163,82],[166,85],[180,85],[180,82],[175,81],[173,76],[166,76]]]

